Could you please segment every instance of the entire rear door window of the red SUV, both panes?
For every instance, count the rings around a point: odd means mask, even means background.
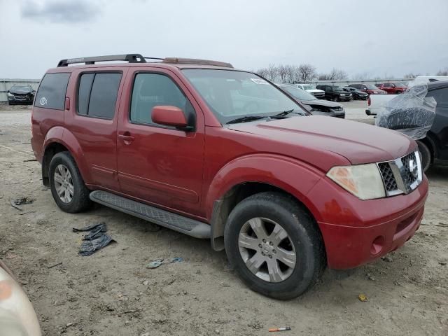
[[[83,73],[78,87],[78,114],[113,119],[121,73]]]

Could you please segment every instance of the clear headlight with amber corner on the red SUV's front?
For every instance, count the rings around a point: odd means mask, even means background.
[[[332,167],[327,176],[360,200],[386,197],[377,165]]]

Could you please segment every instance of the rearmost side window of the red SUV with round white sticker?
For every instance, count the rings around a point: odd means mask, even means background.
[[[64,110],[65,94],[70,73],[46,73],[37,90],[34,106]]]

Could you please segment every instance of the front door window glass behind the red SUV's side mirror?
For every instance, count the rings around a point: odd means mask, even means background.
[[[138,73],[132,89],[131,121],[152,124],[154,106],[171,105],[182,111],[193,109],[173,80],[158,73]]]

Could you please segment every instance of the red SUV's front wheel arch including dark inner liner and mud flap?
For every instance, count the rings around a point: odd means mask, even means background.
[[[256,193],[273,191],[291,197],[307,211],[317,226],[319,211],[308,199],[307,193],[323,174],[303,162],[278,155],[269,156],[238,160],[226,165],[216,174],[206,202],[209,211],[207,217],[211,224],[211,245],[216,251],[224,248],[224,228],[232,209],[246,197]]]

